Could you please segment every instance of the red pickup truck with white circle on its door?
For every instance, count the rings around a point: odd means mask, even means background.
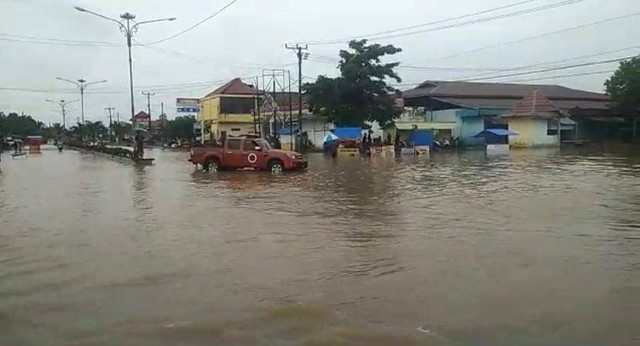
[[[189,161],[207,172],[253,168],[281,173],[308,166],[302,154],[273,149],[264,139],[250,136],[228,137],[222,147],[193,148]]]

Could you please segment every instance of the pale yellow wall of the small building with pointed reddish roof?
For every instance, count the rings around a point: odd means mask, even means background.
[[[558,136],[547,135],[547,119],[521,118],[509,119],[509,130],[517,136],[509,136],[509,144],[516,148],[557,146]]]

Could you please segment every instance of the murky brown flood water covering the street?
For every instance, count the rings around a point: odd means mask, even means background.
[[[0,345],[640,345],[640,154],[149,154],[3,154]]]

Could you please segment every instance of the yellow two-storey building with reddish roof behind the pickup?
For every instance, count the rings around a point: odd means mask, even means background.
[[[200,99],[198,122],[209,127],[215,139],[254,133],[256,102],[256,89],[235,78]]]

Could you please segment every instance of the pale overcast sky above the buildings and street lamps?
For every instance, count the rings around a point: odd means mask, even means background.
[[[151,101],[154,118],[160,113],[161,102],[164,102],[165,112],[171,118],[175,116],[176,97],[202,97],[233,77],[245,77],[246,82],[252,83],[255,77],[246,77],[261,75],[263,68],[291,69],[295,77],[296,58],[285,49],[287,42],[342,41],[352,36],[441,20],[443,22],[439,24],[386,34],[403,36],[374,40],[403,49],[394,58],[408,66],[398,70],[403,78],[399,88],[407,89],[411,87],[409,84],[427,79],[495,77],[523,71],[486,71],[490,69],[536,65],[524,69],[531,71],[544,69],[549,66],[545,63],[550,62],[556,62],[552,66],[566,66],[638,54],[640,15],[597,25],[592,23],[640,12],[640,1],[574,1],[545,11],[443,28],[566,0],[529,1],[454,21],[444,20],[524,1],[238,0],[218,16],[183,35],[149,47],[133,47],[136,111],[146,109],[146,98],[141,91],[157,93]],[[0,110],[24,111],[46,123],[60,122],[56,106],[44,100],[73,100],[79,96],[73,85],[60,82],[56,77],[85,78],[88,81],[107,79],[108,83],[87,89],[86,120],[106,121],[105,107],[115,107],[123,119],[129,117],[125,39],[117,24],[78,12],[74,6],[115,18],[128,11],[134,13],[138,21],[178,18],[173,22],[141,26],[135,39],[145,43],[189,28],[229,2],[0,0]],[[582,28],[544,35],[582,25]],[[537,35],[540,37],[528,39]],[[516,40],[520,41],[513,42]],[[114,45],[87,46],[77,41]],[[344,47],[345,43],[309,45],[310,56],[304,62],[304,76],[335,75],[337,53]],[[572,59],[603,52],[611,53]],[[565,59],[572,60],[557,62]],[[602,91],[602,84],[610,73],[600,72],[613,70],[616,66],[617,63],[609,63],[490,80],[561,84]],[[581,75],[564,77],[568,74]],[[545,77],[561,78],[541,79]],[[80,116],[79,103],[69,108],[71,114],[67,121],[72,123]]]

